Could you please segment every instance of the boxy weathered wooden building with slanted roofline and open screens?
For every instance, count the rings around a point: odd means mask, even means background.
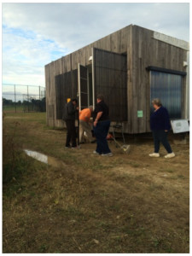
[[[150,131],[151,100],[160,97],[172,119],[187,116],[189,43],[140,26],[126,26],[45,66],[47,124],[61,127],[63,105],[81,108],[105,96],[113,122],[127,133]]]

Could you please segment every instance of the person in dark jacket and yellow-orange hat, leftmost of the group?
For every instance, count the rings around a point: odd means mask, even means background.
[[[66,122],[67,126],[67,138],[66,138],[66,148],[78,148],[76,143],[76,128],[75,128],[75,113],[79,110],[77,107],[77,100],[72,99],[70,102],[64,106],[62,119]]]

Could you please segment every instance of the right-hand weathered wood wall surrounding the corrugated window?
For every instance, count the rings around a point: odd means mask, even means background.
[[[131,112],[131,133],[150,131],[150,76],[148,66],[185,71],[183,61],[186,50],[153,38],[154,32],[134,26],[132,32],[132,98],[129,104]],[[130,64],[130,63],[129,63]],[[128,65],[129,65],[128,64]],[[129,85],[128,85],[129,86]],[[183,90],[185,90],[183,83]],[[143,110],[143,118],[137,118],[137,111]],[[130,110],[131,111],[131,110]]]

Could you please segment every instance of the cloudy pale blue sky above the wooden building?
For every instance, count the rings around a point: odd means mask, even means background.
[[[3,83],[44,85],[44,65],[130,24],[189,41],[189,3],[3,3]]]

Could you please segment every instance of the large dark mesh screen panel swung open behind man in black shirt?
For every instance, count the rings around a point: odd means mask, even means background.
[[[127,120],[127,55],[103,49],[93,49],[93,105],[102,94],[112,121]]]

